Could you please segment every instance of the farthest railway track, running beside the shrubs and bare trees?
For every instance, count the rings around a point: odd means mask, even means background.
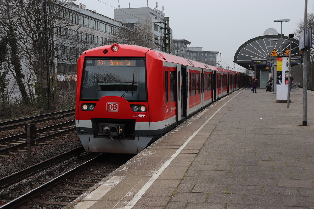
[[[20,128],[28,123],[41,123],[49,120],[56,120],[68,116],[75,115],[75,109],[65,110],[60,112],[48,113],[45,115],[38,115],[29,118],[21,118],[17,120],[5,121],[0,123],[0,131],[10,130],[13,128]]]

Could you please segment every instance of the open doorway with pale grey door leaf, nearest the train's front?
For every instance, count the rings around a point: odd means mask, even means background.
[[[178,94],[177,94],[177,121],[187,116],[186,98],[186,66],[177,65]]]

